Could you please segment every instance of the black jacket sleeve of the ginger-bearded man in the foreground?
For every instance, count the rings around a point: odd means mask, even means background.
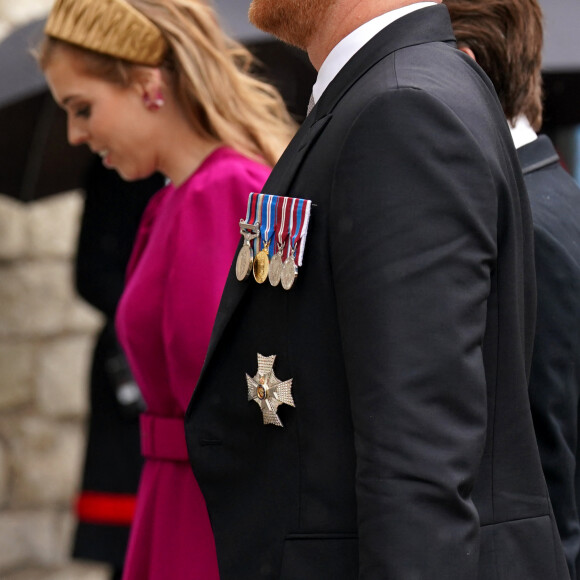
[[[474,136],[419,90],[376,98],[343,144],[330,243],[361,580],[477,577],[496,189]]]

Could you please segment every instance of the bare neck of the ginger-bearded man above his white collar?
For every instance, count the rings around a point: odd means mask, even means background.
[[[319,70],[330,51],[365,22],[421,0],[337,0],[308,45],[310,62]],[[433,0],[441,2],[441,0]]]

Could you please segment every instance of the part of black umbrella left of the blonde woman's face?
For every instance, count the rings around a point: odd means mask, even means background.
[[[66,115],[32,55],[44,19],[0,43],[0,194],[22,201],[78,187],[94,155],[72,147]]]

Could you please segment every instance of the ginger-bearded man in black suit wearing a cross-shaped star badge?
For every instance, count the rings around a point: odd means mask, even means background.
[[[493,86],[436,3],[250,13],[319,70],[264,186],[313,207],[289,291],[232,269],[186,416],[222,580],[566,578],[527,393],[531,216]]]

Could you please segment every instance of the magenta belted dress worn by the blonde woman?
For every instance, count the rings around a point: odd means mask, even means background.
[[[228,148],[151,200],[117,329],[147,402],[146,458],[123,580],[217,580],[213,534],[188,463],[183,417],[199,377],[248,195],[269,168]]]

